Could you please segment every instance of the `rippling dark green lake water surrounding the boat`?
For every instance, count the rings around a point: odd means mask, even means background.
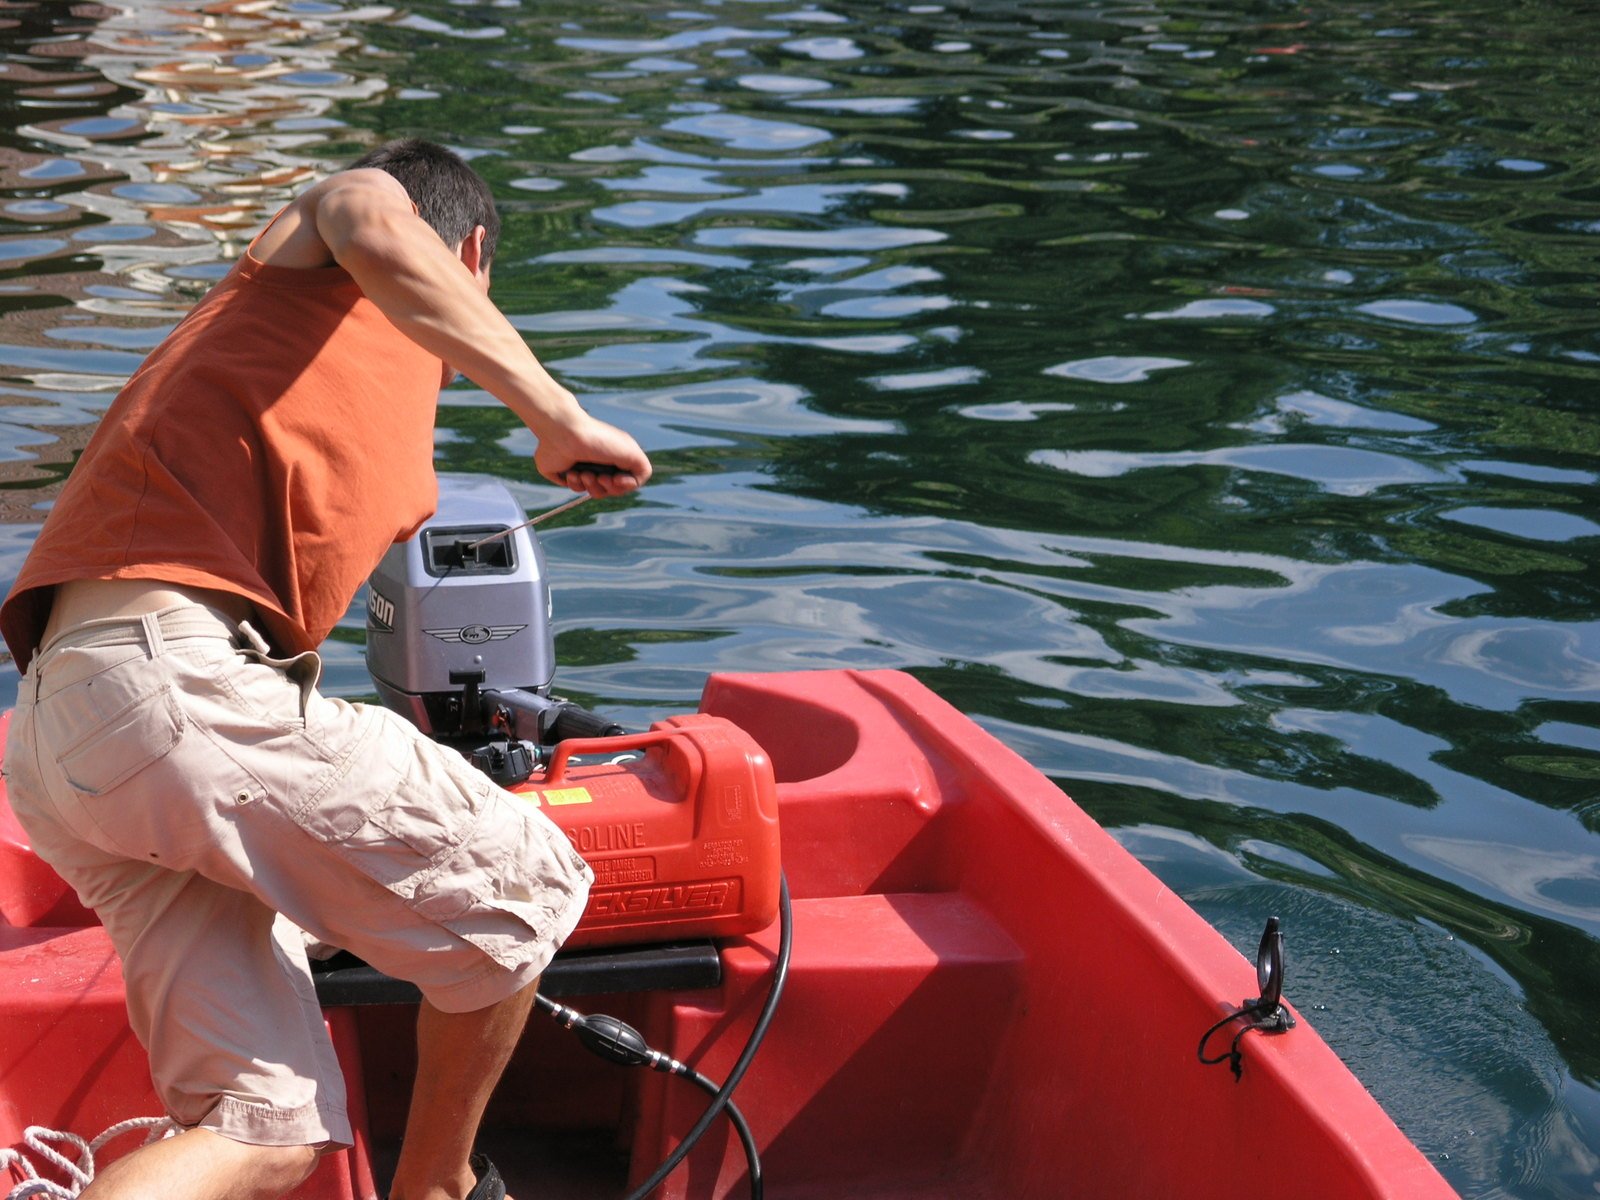
[[[438,138],[504,203],[496,298],[659,469],[546,539],[566,690],[910,669],[1237,944],[1280,912],[1466,1195],[1595,1195],[1592,13],[0,18],[6,578],[262,219]],[[442,467],[538,507],[530,450],[445,397]]]

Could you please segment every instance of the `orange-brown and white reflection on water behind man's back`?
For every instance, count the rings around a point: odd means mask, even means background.
[[[320,170],[299,150],[342,128],[333,106],[384,82],[333,67],[376,11],[8,11],[0,482],[24,488],[3,512],[37,520],[142,354]]]

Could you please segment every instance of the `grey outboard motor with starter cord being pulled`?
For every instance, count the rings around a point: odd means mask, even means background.
[[[550,589],[525,520],[506,485],[440,475],[438,510],[389,549],[366,600],[366,667],[382,702],[502,787],[565,738],[624,731],[550,694]]]

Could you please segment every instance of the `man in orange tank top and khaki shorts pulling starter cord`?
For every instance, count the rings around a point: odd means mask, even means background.
[[[498,226],[427,142],[310,187],[128,381],[0,608],[11,805],[104,922],[182,1126],[93,1200],[275,1197],[349,1144],[299,930],[422,990],[392,1200],[504,1192],[472,1139],[592,874],[459,755],[315,691],[315,646],[432,512],[450,371],[546,478],[650,478],[490,302]]]

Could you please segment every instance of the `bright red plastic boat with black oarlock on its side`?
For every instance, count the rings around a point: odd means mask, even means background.
[[[770,758],[794,896],[787,987],[736,1091],[770,1195],[1454,1195],[1291,1010],[1293,1029],[1238,1038],[1237,1078],[1202,1066],[1200,1035],[1256,995],[1256,970],[910,677],[718,675],[701,709]],[[573,1005],[720,1080],[778,941],[776,925],[720,939],[709,978],[674,976],[677,950],[643,976],[578,950],[563,990],[610,992]],[[627,990],[608,982],[624,976]],[[358,1142],[298,1195],[365,1200],[403,1122],[414,1010],[325,1000]],[[682,1080],[597,1062],[534,1016],[485,1139],[517,1195],[616,1197],[704,1109]],[[157,1112],[104,933],[0,805],[0,1146],[27,1125],[88,1136]],[[658,1195],[742,1197],[747,1182],[718,1122]]]

